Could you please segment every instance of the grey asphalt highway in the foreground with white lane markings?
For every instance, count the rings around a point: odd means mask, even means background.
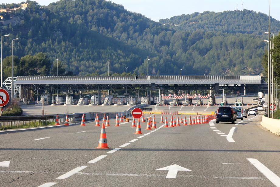
[[[280,185],[280,139],[262,129],[261,115],[172,128],[159,128],[160,117],[156,131],[141,123],[142,135],[131,122],[115,127],[111,119],[104,150],[95,149],[95,122],[0,134],[0,186]],[[179,166],[187,171],[176,172]]]

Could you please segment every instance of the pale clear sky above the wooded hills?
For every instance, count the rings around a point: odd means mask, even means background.
[[[4,1],[4,0],[1,0]],[[23,0],[5,0],[5,3],[19,3]],[[269,0],[111,0],[114,3],[122,4],[125,9],[131,12],[141,13],[144,16],[158,21],[159,19],[171,18],[182,14],[193,12],[241,9],[243,2],[244,9],[254,10],[268,14]],[[48,5],[56,0],[37,0],[40,5]],[[0,2],[2,3],[2,2]],[[270,15],[280,20],[280,0],[271,0]]]

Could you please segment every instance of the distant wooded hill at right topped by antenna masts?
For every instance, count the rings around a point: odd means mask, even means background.
[[[252,10],[224,11],[224,12],[195,12],[170,19],[159,20],[161,24],[168,24],[176,30],[195,31],[198,29],[241,34],[264,34],[268,30],[268,15]],[[280,32],[280,21],[271,18],[271,33]]]

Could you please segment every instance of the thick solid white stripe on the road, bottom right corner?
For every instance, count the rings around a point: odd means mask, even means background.
[[[254,158],[247,158],[247,160],[251,162],[251,164],[253,164],[259,171],[261,171],[261,173],[264,174],[264,176],[268,178],[268,180],[270,180],[275,186],[280,186],[280,178],[267,167],[265,167],[264,164]]]

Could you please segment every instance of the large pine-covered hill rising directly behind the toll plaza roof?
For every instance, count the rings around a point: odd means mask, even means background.
[[[147,58],[150,75],[178,75],[179,69],[185,75],[257,75],[262,70],[264,36],[252,32],[209,30],[207,23],[193,30],[178,29],[169,25],[172,18],[163,25],[162,20],[154,22],[103,0],[29,4],[13,15],[16,22],[0,26],[2,35],[12,35],[4,40],[4,56],[11,54],[11,39],[19,37],[15,47],[19,57],[43,52],[54,65],[60,58],[67,70],[78,75],[107,74],[107,59],[111,74],[125,72],[125,67],[146,74]],[[266,26],[261,24],[258,33]]]

